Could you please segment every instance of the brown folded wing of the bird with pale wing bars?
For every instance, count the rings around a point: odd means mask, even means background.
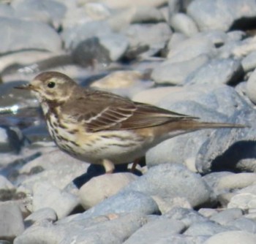
[[[69,116],[84,123],[87,131],[140,129],[171,121],[195,119],[149,104],[132,102],[121,96],[91,91],[66,106]],[[63,110],[65,113],[65,108]],[[67,112],[66,112],[67,113]]]

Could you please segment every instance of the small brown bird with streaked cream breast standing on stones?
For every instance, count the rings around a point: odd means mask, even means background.
[[[148,149],[199,129],[244,128],[211,123],[116,94],[83,88],[61,72],[42,72],[29,85],[39,99],[50,136],[70,156],[101,164],[111,173],[116,164],[136,161]]]

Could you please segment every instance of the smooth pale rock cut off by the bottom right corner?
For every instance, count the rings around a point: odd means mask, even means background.
[[[233,244],[233,243],[246,243],[253,244],[256,242],[256,235],[243,232],[243,231],[231,231],[231,232],[222,232],[206,240],[205,244]]]

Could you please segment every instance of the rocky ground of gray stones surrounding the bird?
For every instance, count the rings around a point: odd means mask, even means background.
[[[0,4],[0,243],[256,243],[256,2]],[[45,70],[202,121],[112,175],[51,142]],[[82,175],[82,176],[80,176]]]

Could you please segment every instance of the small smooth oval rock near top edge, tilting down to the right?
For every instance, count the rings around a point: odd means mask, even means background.
[[[192,37],[198,33],[198,28],[195,22],[188,15],[184,13],[177,13],[170,18],[170,26],[176,32],[181,32],[187,37]]]

